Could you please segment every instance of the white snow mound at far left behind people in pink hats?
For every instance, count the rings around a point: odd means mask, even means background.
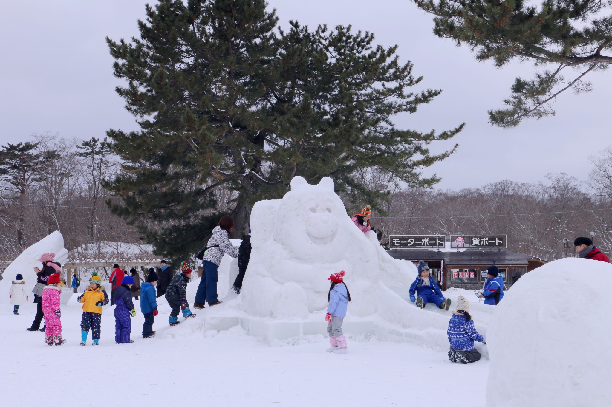
[[[47,237],[43,237],[38,242],[26,248],[17,259],[4,270],[4,278],[0,280],[0,292],[6,293],[0,295],[0,303],[8,303],[10,284],[15,276],[20,273],[26,282],[26,293],[31,301],[34,301],[34,295],[31,294],[32,289],[36,285],[36,272],[34,267],[42,267],[42,264],[37,260],[43,253],[55,253],[55,261],[64,265],[68,259],[68,250],[64,248],[64,236],[58,231],[54,231]]]

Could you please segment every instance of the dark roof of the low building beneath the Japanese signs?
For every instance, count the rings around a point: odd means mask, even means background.
[[[468,249],[464,251],[437,251],[427,249],[390,249],[392,258],[409,261],[440,261],[447,265],[528,265],[527,254],[508,249]]]

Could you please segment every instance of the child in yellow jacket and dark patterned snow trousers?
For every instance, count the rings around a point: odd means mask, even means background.
[[[81,318],[81,346],[85,346],[89,328],[91,337],[94,339],[92,345],[97,345],[100,340],[100,320],[102,319],[102,306],[108,304],[108,294],[102,286],[102,278],[94,272],[89,279],[89,287],[83,295],[76,298],[83,303],[83,317]]]

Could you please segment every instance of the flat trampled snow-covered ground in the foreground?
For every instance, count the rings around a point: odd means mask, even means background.
[[[170,328],[160,298],[157,336],[142,339],[143,316],[132,319],[133,344],[114,342],[113,308],[105,307],[98,347],[80,347],[81,309],[62,306],[61,347],[28,332],[31,301],[0,309],[0,405],[106,406],[453,406],[483,407],[488,361],[449,362],[446,352],[406,343],[349,337],[349,353],[327,353],[327,338],[269,346],[236,326],[200,331],[193,320]],[[427,311],[423,311],[427,312]],[[449,315],[450,317],[450,315]],[[182,320],[179,317],[179,320]]]

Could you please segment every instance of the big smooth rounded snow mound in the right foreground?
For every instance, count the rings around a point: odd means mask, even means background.
[[[578,258],[521,277],[491,317],[487,407],[612,405],[611,285]]]

